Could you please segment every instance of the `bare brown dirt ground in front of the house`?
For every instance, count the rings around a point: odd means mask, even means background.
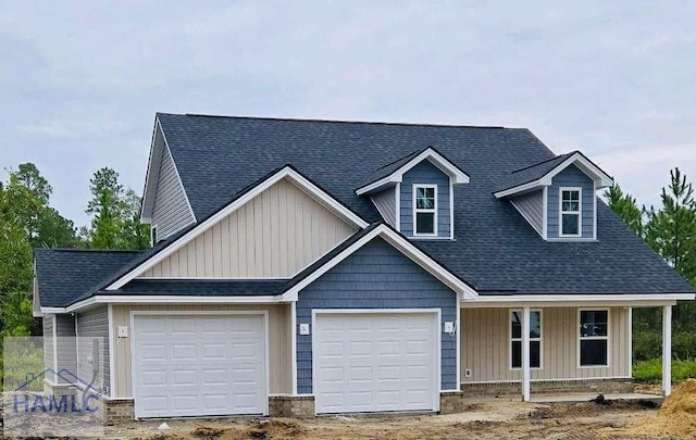
[[[109,437],[139,440],[241,439],[686,439],[643,435],[633,427],[657,416],[651,402],[614,401],[542,405],[521,402],[472,404],[445,416],[326,416],[311,420],[284,418],[162,420],[133,423],[109,430]],[[696,431],[694,432],[696,433]]]

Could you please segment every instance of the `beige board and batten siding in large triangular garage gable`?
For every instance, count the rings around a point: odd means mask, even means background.
[[[283,179],[141,278],[290,278],[356,231]]]

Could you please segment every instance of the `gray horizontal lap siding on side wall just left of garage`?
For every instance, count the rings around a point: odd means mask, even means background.
[[[92,384],[92,388],[101,391],[109,390],[110,360],[109,360],[109,311],[107,306],[90,309],[76,316],[75,329],[77,334],[77,376]],[[98,342],[98,367],[92,370],[92,348]]]

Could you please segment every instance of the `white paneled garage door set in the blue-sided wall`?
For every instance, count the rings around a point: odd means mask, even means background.
[[[437,410],[434,313],[316,314],[316,413]]]

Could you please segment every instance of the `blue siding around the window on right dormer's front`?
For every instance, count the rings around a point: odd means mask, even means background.
[[[561,187],[580,187],[583,189],[582,200],[582,238],[594,238],[594,202],[595,189],[592,178],[580,171],[575,165],[558,173],[548,187],[548,238],[559,238],[559,198]]]

